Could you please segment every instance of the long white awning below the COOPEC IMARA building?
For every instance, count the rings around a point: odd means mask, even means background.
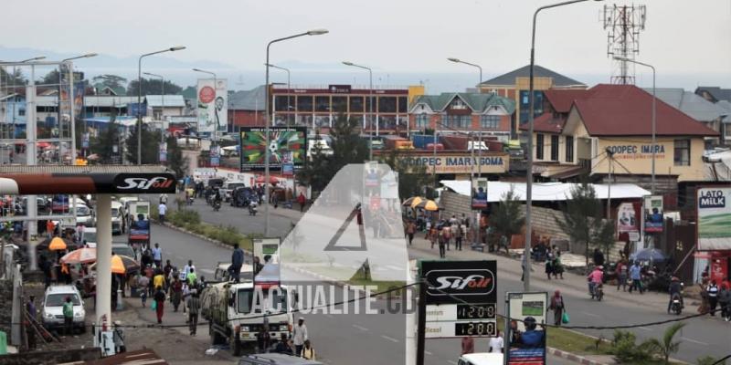
[[[469,180],[442,180],[440,183],[455,193],[462,195],[470,194]],[[535,202],[552,202],[565,201],[571,197],[571,188],[577,183],[534,183],[533,184],[533,200]],[[597,198],[607,199],[609,195],[609,186],[607,184],[590,184],[594,186],[597,192]],[[525,183],[503,183],[488,182],[487,183],[487,201],[497,203],[503,199],[503,196],[510,192],[511,188],[518,200],[525,200]],[[613,183],[611,184],[612,199],[633,199],[650,195],[650,192],[642,189],[633,183]]]

